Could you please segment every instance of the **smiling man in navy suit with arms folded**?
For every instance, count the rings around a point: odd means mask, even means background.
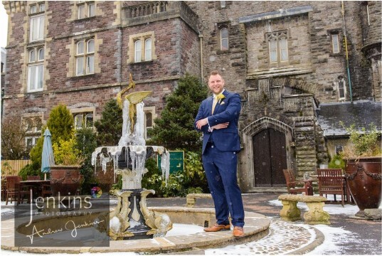
[[[196,130],[203,132],[203,167],[216,211],[216,224],[204,230],[230,230],[230,215],[233,235],[240,237],[244,235],[244,208],[236,171],[241,100],[237,93],[224,90],[224,80],[218,71],[211,72],[208,87],[213,97],[201,102],[195,118]]]

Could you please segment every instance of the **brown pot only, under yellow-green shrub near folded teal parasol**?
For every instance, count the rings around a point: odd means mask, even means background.
[[[51,166],[53,196],[75,196],[82,180],[80,166]]]

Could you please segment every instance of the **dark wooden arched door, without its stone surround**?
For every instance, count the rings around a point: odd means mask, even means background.
[[[285,134],[267,128],[253,137],[255,187],[285,186],[282,169],[287,169]]]

